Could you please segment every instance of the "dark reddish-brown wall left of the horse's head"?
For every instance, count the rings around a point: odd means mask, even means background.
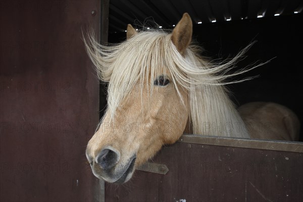
[[[98,123],[98,80],[81,30],[99,35],[100,1],[0,9],[0,200],[97,200],[85,148]]]

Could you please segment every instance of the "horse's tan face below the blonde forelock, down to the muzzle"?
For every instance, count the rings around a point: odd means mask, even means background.
[[[127,33],[132,32],[135,34],[128,27]],[[96,177],[124,183],[131,178],[135,165],[146,162],[162,145],[174,143],[182,135],[188,119],[187,91],[178,88],[182,103],[169,72],[154,75],[154,80],[148,78],[144,84],[138,81],[132,86],[128,98],[120,102],[114,122],[107,111],[89,140],[86,156]],[[147,84],[153,85],[152,92],[147,90]],[[108,93],[110,90],[119,87]]]

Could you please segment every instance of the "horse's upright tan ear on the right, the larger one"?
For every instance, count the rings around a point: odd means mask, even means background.
[[[178,22],[173,30],[172,41],[178,48],[179,52],[183,54],[191,41],[192,22],[188,13],[184,13],[181,20]]]

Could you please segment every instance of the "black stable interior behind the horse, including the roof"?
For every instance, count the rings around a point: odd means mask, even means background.
[[[204,56],[223,61],[256,41],[245,54],[246,58],[237,63],[235,70],[270,61],[235,79],[257,78],[228,85],[237,106],[248,102],[275,102],[293,110],[303,123],[303,99],[299,87],[302,86],[302,9],[302,1],[287,0],[111,0],[108,42],[125,40],[127,24],[139,30],[147,30],[147,27],[159,29],[159,26],[162,26],[161,29],[173,29],[182,14],[188,12],[194,23],[193,40],[205,49]],[[101,105],[104,103],[101,102]],[[104,106],[100,107],[103,109]],[[300,134],[300,141],[303,141],[302,132]]]

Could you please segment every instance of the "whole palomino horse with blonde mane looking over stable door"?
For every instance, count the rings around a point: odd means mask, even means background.
[[[100,80],[109,82],[105,116],[86,149],[96,177],[114,183],[128,181],[134,165],[146,162],[164,144],[176,142],[184,131],[298,138],[299,122],[289,109],[250,103],[238,112],[229,99],[224,84],[240,81],[226,79],[249,70],[228,74],[246,48],[224,64],[211,64],[190,44],[191,35],[192,22],[185,13],[172,33],[137,32],[128,25],[127,40],[118,45],[100,45],[93,35],[84,39]],[[264,123],[270,125],[260,130]]]

